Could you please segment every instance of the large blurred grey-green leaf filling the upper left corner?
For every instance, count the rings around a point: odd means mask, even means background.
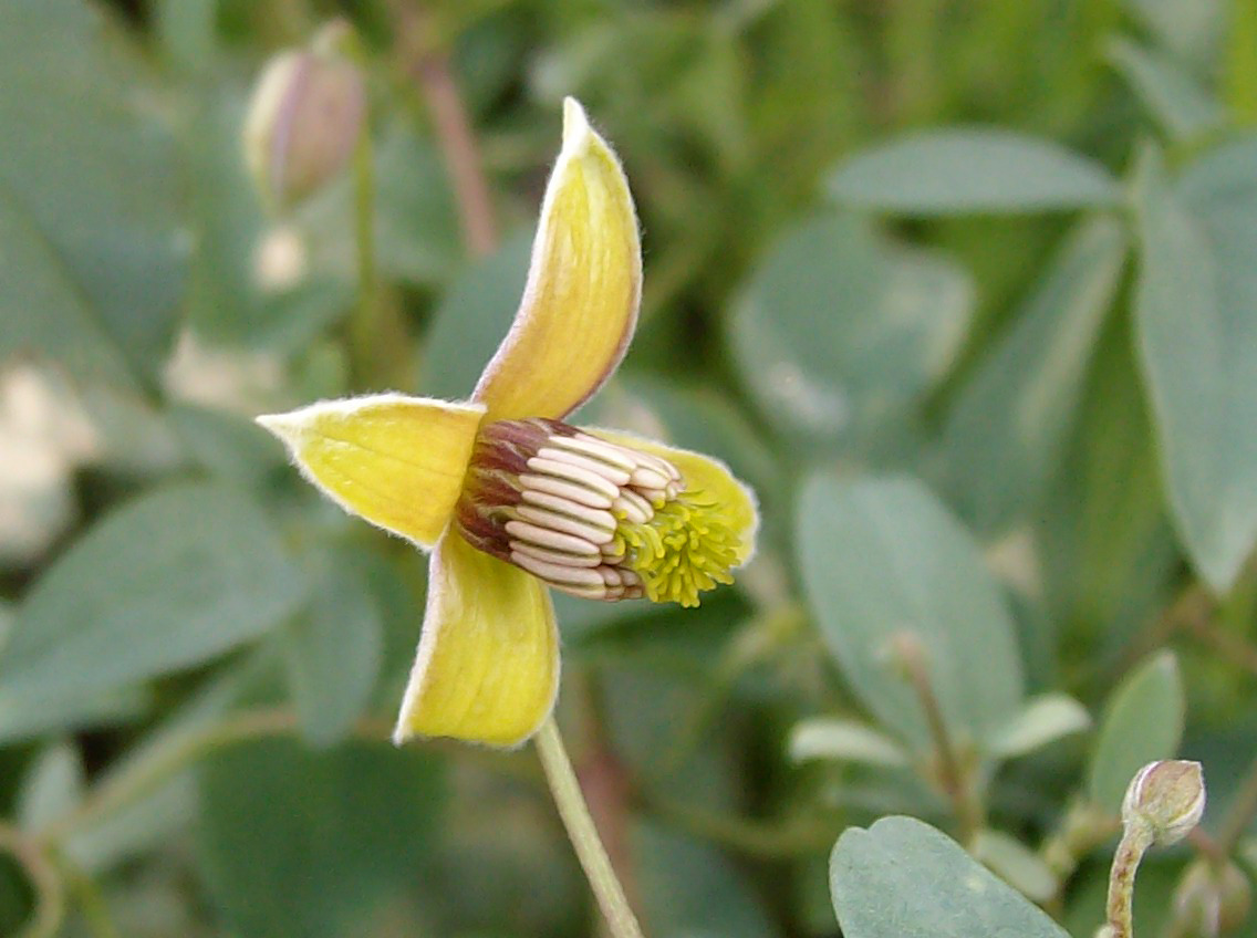
[[[94,6],[0,4],[0,358],[114,383],[165,358],[186,241],[151,92]]]

